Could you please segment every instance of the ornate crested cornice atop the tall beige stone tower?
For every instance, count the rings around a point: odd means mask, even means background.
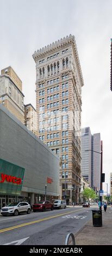
[[[42,47],[42,49],[40,48],[40,50],[37,50],[34,52],[33,54],[33,59],[36,63],[36,61],[40,58],[44,58],[44,56],[48,53],[55,52],[57,50],[59,50],[60,48],[63,48],[67,45],[72,44],[73,46],[73,50],[74,50],[74,55],[76,56],[76,60],[77,60],[77,65],[78,65],[78,69],[79,69],[79,75],[80,75],[80,81],[82,83],[82,86],[84,86],[84,81],[83,81],[83,75],[82,75],[82,70],[80,67],[80,62],[79,62],[79,57],[78,57],[78,51],[77,51],[77,45],[76,45],[76,40],[74,38],[74,35],[69,35],[66,36],[66,38],[64,37],[63,39],[61,38],[58,41],[53,42],[50,45],[47,45],[45,47]]]

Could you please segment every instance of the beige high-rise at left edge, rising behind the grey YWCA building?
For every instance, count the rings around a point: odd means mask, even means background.
[[[11,66],[1,70],[0,103],[14,114],[18,120],[24,123],[22,82]]]

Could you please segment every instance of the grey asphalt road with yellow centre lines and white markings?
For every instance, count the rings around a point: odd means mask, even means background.
[[[0,216],[0,245],[65,245],[66,235],[76,234],[91,217],[91,208],[82,206]]]

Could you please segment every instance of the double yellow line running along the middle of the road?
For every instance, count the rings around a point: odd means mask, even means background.
[[[60,217],[60,216],[63,216],[63,215],[68,215],[68,214],[71,214],[72,212],[77,212],[77,211],[82,211],[82,209],[76,210],[76,211],[69,211],[69,212],[66,212],[64,214],[58,214],[58,215],[50,216],[50,217],[46,217],[46,218],[41,218],[40,220],[37,220],[37,221],[30,221],[30,222],[23,223],[23,224],[20,224],[20,225],[16,225],[16,226],[13,226],[13,227],[10,227],[10,228],[0,229],[0,233],[3,233],[5,231],[9,231],[9,230],[13,230],[13,229],[16,229],[16,228],[21,228],[21,227],[24,227],[24,226],[27,226],[27,225],[39,223],[41,221],[50,220],[52,218],[57,218],[57,217]]]

